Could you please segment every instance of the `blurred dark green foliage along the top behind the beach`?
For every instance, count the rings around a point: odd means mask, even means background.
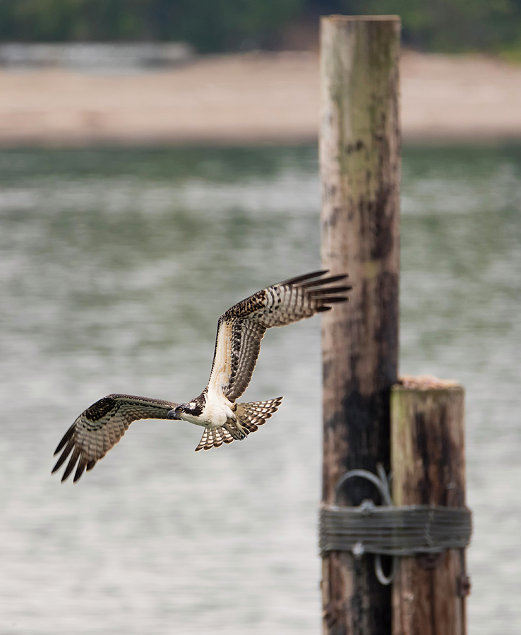
[[[521,51],[521,0],[0,0],[0,40],[184,40],[199,52],[276,48],[321,14],[397,13],[424,50]]]

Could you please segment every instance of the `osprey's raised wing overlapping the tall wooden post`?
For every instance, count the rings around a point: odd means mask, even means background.
[[[235,401],[248,387],[266,329],[281,327],[347,301],[350,286],[330,286],[347,274],[323,277],[316,271],[266,289],[242,300],[219,318],[208,392]]]

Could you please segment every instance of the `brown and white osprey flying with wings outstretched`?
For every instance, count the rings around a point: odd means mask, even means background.
[[[330,286],[347,274],[324,277],[327,273],[328,270],[316,271],[273,284],[223,313],[217,323],[208,385],[186,404],[129,394],[109,394],[96,401],[80,414],[59,442],[54,454],[62,449],[63,452],[52,471],[58,470],[72,452],[61,480],[66,480],[78,464],[76,482],[85,468],[92,470],[138,419],[174,419],[203,426],[196,452],[244,439],[258,430],[282,401],[282,397],[277,397],[236,403],[251,380],[261,339],[270,327],[303,320],[347,301],[344,294],[350,286]]]

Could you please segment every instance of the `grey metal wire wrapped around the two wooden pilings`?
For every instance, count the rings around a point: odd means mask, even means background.
[[[373,553],[378,580],[390,584],[397,556],[441,553],[446,549],[463,549],[469,545],[472,512],[467,507],[395,507],[382,466],[378,466],[378,473],[379,477],[366,470],[352,470],[338,480],[335,502],[347,480],[359,476],[376,485],[384,504],[376,506],[373,501],[365,500],[359,507],[324,505],[320,515],[322,555],[330,551],[350,551],[355,557]],[[390,576],[383,574],[381,555],[394,556]]]

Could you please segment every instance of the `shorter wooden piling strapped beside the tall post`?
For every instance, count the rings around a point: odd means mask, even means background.
[[[404,377],[391,392],[395,505],[465,506],[464,391],[455,382]],[[393,635],[465,635],[465,550],[400,558]]]

